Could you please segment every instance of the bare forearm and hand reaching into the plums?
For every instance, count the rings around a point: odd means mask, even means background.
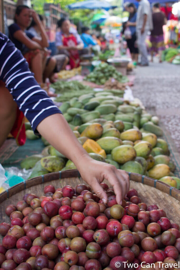
[[[107,179],[114,187],[117,203],[122,203],[129,189],[128,175],[110,164],[93,160],[74,136],[62,114],[46,117],[37,126],[37,130],[60,153],[73,161],[84,181],[105,203],[107,202],[107,194],[100,186],[104,179]]]

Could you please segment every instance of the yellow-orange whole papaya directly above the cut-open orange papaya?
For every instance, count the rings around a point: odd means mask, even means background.
[[[88,137],[90,139],[97,139],[103,134],[103,127],[99,123],[93,123],[87,126],[81,133],[81,137]]]

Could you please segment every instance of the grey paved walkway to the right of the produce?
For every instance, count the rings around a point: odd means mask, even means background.
[[[156,61],[147,67],[138,66],[133,73],[133,96],[159,117],[180,152],[180,67]]]

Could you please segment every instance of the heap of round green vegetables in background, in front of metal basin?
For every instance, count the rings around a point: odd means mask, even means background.
[[[107,63],[101,63],[93,72],[86,76],[85,80],[96,83],[97,85],[104,85],[109,78],[114,78],[119,82],[128,82],[127,76],[122,76],[114,66]]]

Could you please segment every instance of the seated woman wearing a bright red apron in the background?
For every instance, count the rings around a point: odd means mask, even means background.
[[[56,32],[56,48],[59,53],[64,53],[69,57],[72,69],[79,67],[79,50],[84,48],[79,34],[70,29],[71,23],[68,19],[60,19],[57,21],[57,26],[60,28],[60,31]]]

